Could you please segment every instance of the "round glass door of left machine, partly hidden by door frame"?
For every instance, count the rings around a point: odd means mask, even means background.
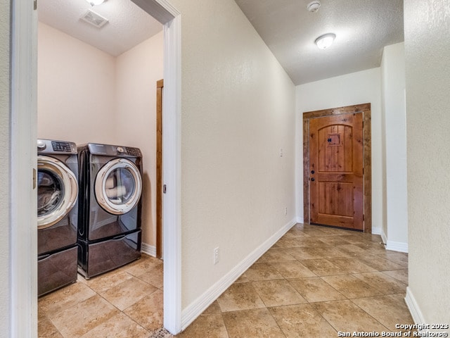
[[[37,156],[37,228],[58,223],[77,202],[77,177],[61,161]]]

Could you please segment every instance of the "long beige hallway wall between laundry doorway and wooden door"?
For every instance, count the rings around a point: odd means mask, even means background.
[[[233,0],[170,2],[181,12],[186,309],[295,218],[295,87]]]

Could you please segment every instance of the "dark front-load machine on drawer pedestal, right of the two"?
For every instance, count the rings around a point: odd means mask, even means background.
[[[141,257],[142,154],[89,143],[78,158],[78,271],[87,279]]]

